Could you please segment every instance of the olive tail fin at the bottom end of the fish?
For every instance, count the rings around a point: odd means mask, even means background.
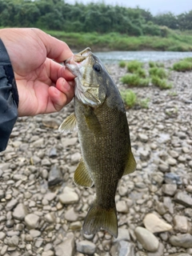
[[[85,234],[95,234],[101,228],[107,230],[115,238],[118,237],[117,211],[115,206],[105,209],[94,202],[86,215],[82,230]]]

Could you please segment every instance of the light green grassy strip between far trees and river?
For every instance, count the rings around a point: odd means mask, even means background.
[[[65,41],[71,49],[82,50],[90,47],[94,51],[106,50],[167,50],[192,51],[192,35],[181,31],[166,30],[166,37],[140,36],[110,33],[65,33],[46,30],[48,34]]]

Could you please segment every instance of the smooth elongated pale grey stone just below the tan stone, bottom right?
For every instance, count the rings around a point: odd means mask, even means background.
[[[158,238],[156,238],[149,230],[146,230],[142,226],[137,226],[134,233],[138,238],[138,242],[142,244],[143,249],[151,252],[158,250]]]

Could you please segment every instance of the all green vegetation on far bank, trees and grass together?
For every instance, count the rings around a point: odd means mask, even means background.
[[[82,50],[192,50],[192,10],[153,16],[149,10],[104,2],[0,0],[0,26],[38,27]]]

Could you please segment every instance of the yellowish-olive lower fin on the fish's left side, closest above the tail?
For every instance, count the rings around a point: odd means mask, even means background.
[[[94,185],[93,180],[90,178],[90,174],[86,169],[85,163],[79,162],[78,168],[74,172],[74,183],[78,186],[90,187]]]

